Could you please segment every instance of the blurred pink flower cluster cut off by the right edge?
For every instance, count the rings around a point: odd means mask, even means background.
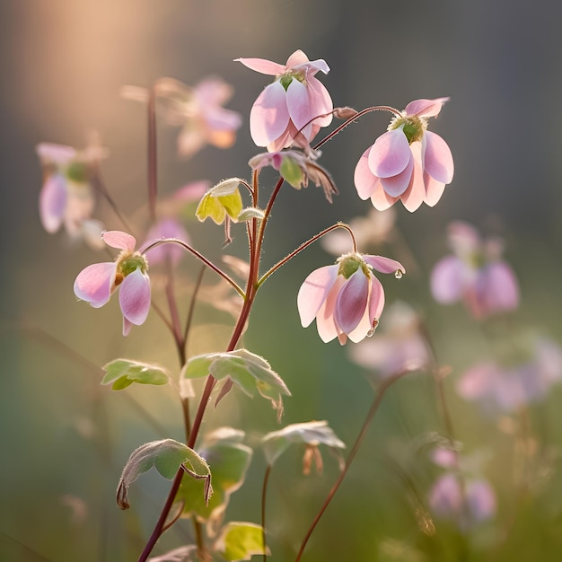
[[[476,364],[457,383],[465,400],[476,400],[488,413],[514,412],[543,400],[550,387],[562,379],[562,349],[540,338],[531,357],[522,364],[502,366],[494,362]]]

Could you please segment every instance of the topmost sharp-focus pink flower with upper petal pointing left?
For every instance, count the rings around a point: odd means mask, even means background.
[[[294,51],[285,65],[264,58],[236,60],[251,70],[276,77],[259,94],[250,111],[250,134],[256,145],[266,146],[268,151],[293,144],[303,147],[321,127],[331,123],[333,104],[329,92],[314,76],[318,71],[329,73],[325,60],[310,61],[302,50]]]

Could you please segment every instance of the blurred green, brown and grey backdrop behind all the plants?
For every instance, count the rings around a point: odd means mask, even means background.
[[[486,452],[485,472],[498,497],[496,516],[477,533],[439,522],[431,536],[420,529],[412,487],[425,497],[430,470],[420,476],[411,467],[397,468],[397,451],[444,427],[431,377],[412,377],[385,397],[305,559],[558,560],[562,391],[554,387],[528,412],[531,427],[540,429],[540,446],[549,448],[550,464],[540,486],[522,494],[510,476],[514,440],[454,392],[455,375],[479,356],[485,337],[461,305],[432,302],[428,275],[447,252],[444,233],[452,220],[501,234],[522,289],[512,320],[562,342],[561,16],[557,3],[521,0],[0,3],[0,559],[136,559],[167,483],[145,475],[131,490],[133,509],[122,513],[114,503],[120,470],[139,444],[182,435],[180,406],[169,389],[118,393],[99,385],[100,366],[117,356],[160,362],[177,373],[174,349],[155,315],[124,339],[117,303],[99,311],[76,303],[75,275],[99,254],[69,244],[63,233],[42,231],[35,146],[80,147],[90,130],[99,131],[110,151],[104,179],[119,207],[134,215],[145,203],[146,118],[140,104],[119,97],[121,86],[146,87],[161,76],[194,84],[220,75],[235,88],[228,107],[246,119],[237,144],[230,151],[207,147],[189,161],[180,160],[177,131],[162,127],[161,189],[247,177],[247,161],[259,152],[247,116],[267,79],[233,58],[285,62],[302,48],[311,59],[329,63],[331,72],[321,79],[336,105],[401,109],[417,98],[451,97],[432,128],[452,148],[455,178],[435,208],[424,206],[414,215],[398,209],[398,228],[417,268],[385,286],[389,303],[400,298],[423,314],[440,361],[452,365],[445,391],[456,437],[467,451]],[[352,173],[387,122],[382,114],[362,119],[325,147],[322,163],[340,191],[333,205],[319,189],[282,191],[264,262],[274,263],[328,224],[366,215],[369,203],[356,197]],[[109,209],[101,206],[101,212],[109,227],[120,227]],[[219,255],[220,228],[194,224],[189,229],[194,245]],[[232,251],[243,255],[243,233],[234,234]],[[303,330],[295,307],[303,278],[330,261],[315,247],[272,277],[259,295],[244,343],[266,356],[293,392],[285,400],[284,422],[329,419],[351,443],[373,400],[370,377],[349,361],[346,347],[322,344],[314,327]],[[186,263],[188,276],[190,268],[197,266]],[[224,345],[227,317],[203,307],[196,324],[190,352]],[[250,436],[278,427],[267,404],[234,392],[209,412],[209,428],[224,423],[241,426]],[[294,558],[337,473],[337,462],[329,455],[325,461],[322,476],[303,477],[298,453],[287,453],[274,471],[268,510],[272,560]],[[258,451],[248,488],[232,498],[230,519],[259,521],[263,468]],[[524,501],[514,500],[521,496]],[[178,527],[162,540],[159,552],[189,540],[189,526]]]

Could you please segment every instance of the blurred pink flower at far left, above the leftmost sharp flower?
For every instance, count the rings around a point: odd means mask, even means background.
[[[64,225],[71,240],[83,239],[94,249],[102,248],[103,225],[92,219],[95,198],[91,180],[105,150],[96,144],[78,151],[72,146],[40,143],[36,152],[43,168],[43,228],[52,234]]]

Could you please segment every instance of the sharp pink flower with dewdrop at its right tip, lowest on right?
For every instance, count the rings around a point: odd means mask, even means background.
[[[361,341],[372,336],[384,307],[384,290],[373,276],[381,273],[405,273],[394,259],[352,252],[338,263],[312,271],[299,289],[297,307],[303,328],[316,318],[316,328],[324,342],[338,338],[343,346],[347,337]]]

